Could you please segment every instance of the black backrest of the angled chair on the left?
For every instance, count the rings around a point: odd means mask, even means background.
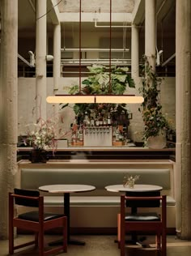
[[[18,205],[22,205],[25,207],[39,207],[39,201],[34,200],[32,198],[38,198],[40,193],[38,190],[22,190],[22,189],[14,189],[14,193],[21,195],[21,198],[15,198],[15,203]],[[30,198],[27,198],[30,197]]]

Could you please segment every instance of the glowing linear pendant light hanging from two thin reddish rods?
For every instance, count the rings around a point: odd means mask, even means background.
[[[82,10],[82,0],[79,0],[79,94],[78,95],[55,95],[55,96],[48,96],[46,98],[46,101],[48,103],[63,103],[63,104],[141,104],[144,99],[142,96],[135,96],[135,95],[111,95],[111,59],[112,59],[112,0],[110,0],[110,45],[109,45],[109,92],[108,95],[83,95],[81,92],[81,54],[82,54],[82,47],[81,47],[81,25],[82,25],[82,19],[81,19],[81,10]]]

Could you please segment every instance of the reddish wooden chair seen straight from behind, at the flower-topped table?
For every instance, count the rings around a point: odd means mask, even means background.
[[[125,209],[132,203],[136,205],[144,202],[150,203],[150,207],[155,207],[157,201],[161,203],[161,215],[156,212],[125,213]],[[155,202],[152,204],[152,202]],[[143,203],[143,205],[142,205]],[[129,204],[129,205],[128,205]],[[166,195],[153,197],[131,197],[121,195],[121,212],[117,215],[117,239],[121,249],[121,256],[125,256],[125,233],[155,233],[156,249],[161,251],[161,256],[166,256]],[[162,242],[161,242],[162,241]]]

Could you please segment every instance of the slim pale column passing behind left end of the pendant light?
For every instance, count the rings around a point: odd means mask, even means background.
[[[61,24],[54,25],[53,30],[53,94],[56,95],[61,77]],[[55,116],[58,115],[59,105],[54,105]]]

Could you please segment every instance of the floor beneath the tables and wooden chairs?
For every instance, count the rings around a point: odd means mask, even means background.
[[[29,241],[32,236],[22,235],[15,239],[19,244],[20,241]],[[60,256],[119,256],[120,250],[114,243],[115,236],[78,236],[74,237],[82,241],[86,241],[86,245],[68,245],[67,254],[57,254]],[[46,236],[46,241],[57,239],[57,236]],[[155,237],[148,237],[151,246],[155,241]],[[168,236],[167,256],[190,256],[191,241],[179,240],[174,236]],[[8,255],[8,241],[0,241],[0,256]],[[127,246],[127,256],[155,256],[156,251],[153,246],[151,248],[142,249],[138,246]],[[20,250],[15,256],[38,256],[38,251],[32,246],[27,250]]]

